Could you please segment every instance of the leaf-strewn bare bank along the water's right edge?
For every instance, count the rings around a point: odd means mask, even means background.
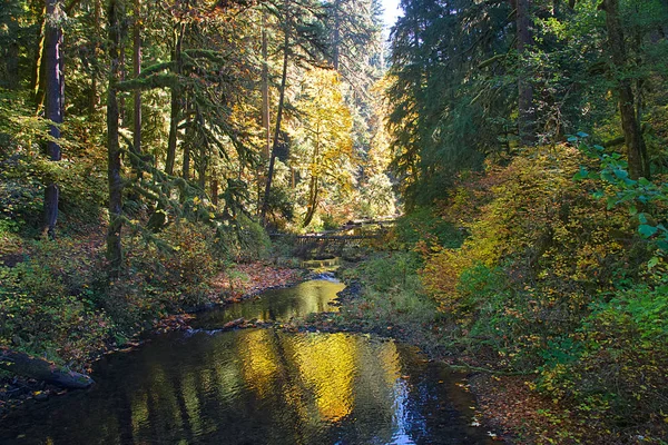
[[[561,400],[536,392],[536,375],[494,368],[465,352],[449,348],[434,320],[415,323],[406,319],[403,308],[397,309],[395,301],[390,304],[390,310],[379,309],[377,300],[373,296],[370,298],[364,279],[356,276],[351,279],[345,266],[338,276],[344,280],[348,278],[345,289],[336,298],[338,312],[311,314],[279,327],[293,333],[364,333],[418,346],[431,360],[465,374],[465,390],[477,400],[473,424],[492,432],[493,441],[515,445],[613,443],[608,442],[608,432],[574,418]],[[392,300],[395,291],[389,290],[385,297]]]

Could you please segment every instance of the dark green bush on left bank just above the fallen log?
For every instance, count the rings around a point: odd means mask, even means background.
[[[92,271],[63,249],[69,243],[35,243],[26,261],[0,267],[0,344],[81,365],[111,323],[95,306],[85,278]]]

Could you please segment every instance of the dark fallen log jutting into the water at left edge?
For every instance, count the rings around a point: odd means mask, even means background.
[[[86,374],[75,373],[43,358],[0,347],[0,369],[24,377],[45,380],[66,388],[87,388],[95,382]]]

